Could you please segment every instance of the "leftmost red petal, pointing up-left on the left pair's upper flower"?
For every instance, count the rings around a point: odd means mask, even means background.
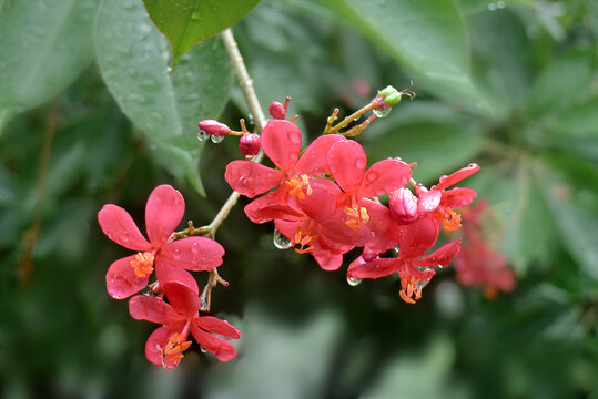
[[[125,248],[139,252],[152,248],[152,245],[143,237],[131,215],[120,206],[104,205],[98,213],[98,222],[108,238]]]

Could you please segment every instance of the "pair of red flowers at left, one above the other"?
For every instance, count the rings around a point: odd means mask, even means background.
[[[110,239],[138,252],[110,266],[105,280],[113,298],[123,299],[144,289],[155,269],[158,283],[152,285],[152,293],[160,296],[138,295],[129,300],[129,309],[135,319],[162,325],[148,339],[145,355],[148,360],[165,368],[176,367],[183,358],[191,345],[186,340],[190,330],[202,348],[223,361],[234,358],[236,351],[231,342],[212,334],[240,337],[240,331],[226,321],[199,316],[200,290],[186,270],[206,272],[220,266],[224,248],[206,237],[174,239],[184,211],[181,193],[170,185],[155,187],[145,206],[149,241],[123,208],[108,204],[98,213],[100,226]]]

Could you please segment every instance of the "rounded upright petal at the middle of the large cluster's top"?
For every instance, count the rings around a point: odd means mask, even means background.
[[[345,140],[328,151],[331,174],[345,193],[356,193],[364,178],[367,156],[359,143]]]

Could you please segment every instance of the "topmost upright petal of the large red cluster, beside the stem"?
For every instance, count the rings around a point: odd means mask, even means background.
[[[292,171],[301,152],[301,131],[292,122],[271,120],[262,132],[262,149],[282,171]]]

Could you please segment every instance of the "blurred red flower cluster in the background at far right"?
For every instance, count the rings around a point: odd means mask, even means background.
[[[499,290],[510,291],[515,288],[515,274],[507,268],[506,256],[496,252],[485,239],[483,221],[489,213],[486,201],[464,209],[465,244],[455,258],[455,272],[457,282],[465,286],[484,287],[484,296],[491,300]]]

